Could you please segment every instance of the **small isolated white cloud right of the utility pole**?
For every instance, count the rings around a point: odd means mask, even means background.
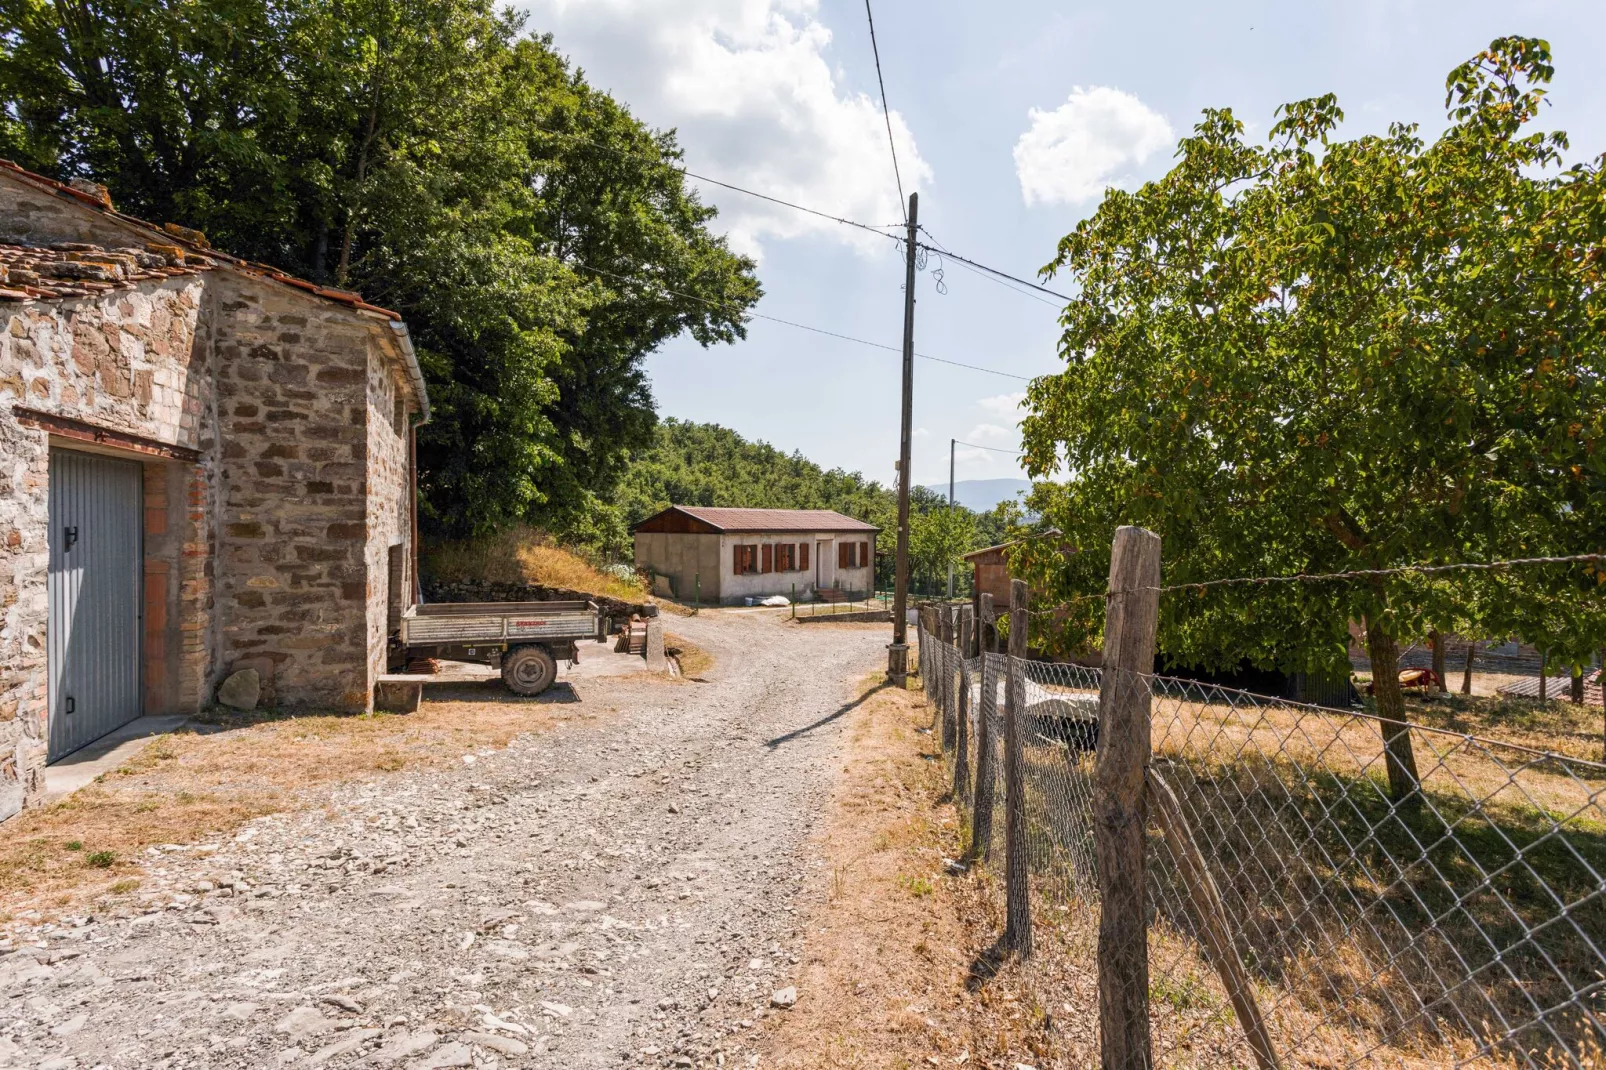
[[[1015,141],[1015,175],[1028,206],[1092,201],[1176,143],[1164,116],[1108,85],[1078,85],[1063,104],[1033,108],[1028,119]]]

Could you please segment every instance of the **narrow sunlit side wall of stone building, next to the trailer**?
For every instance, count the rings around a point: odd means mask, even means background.
[[[408,511],[408,392],[397,379],[395,360],[377,342],[368,353],[368,541],[363,564],[368,569],[368,694],[385,672],[385,641],[390,628],[390,553],[403,554],[403,590],[411,583],[411,513]]]

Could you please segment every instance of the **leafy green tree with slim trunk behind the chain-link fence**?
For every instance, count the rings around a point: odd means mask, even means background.
[[[1079,283],[1066,371],[1033,384],[1025,442],[1036,476],[1071,472],[1033,501],[1084,551],[1066,588],[1102,577],[1123,522],[1164,537],[1168,583],[1606,545],[1606,188],[1598,162],[1561,167],[1563,135],[1529,130],[1550,77],[1543,42],[1494,42],[1450,74],[1431,143],[1412,125],[1336,140],[1331,96],[1285,106],[1267,146],[1208,111],[1171,174],[1111,191],[1060,243],[1050,267]],[[1577,567],[1526,570],[1505,598],[1474,586],[1174,593],[1161,643],[1336,665],[1363,622],[1404,797],[1402,638],[1469,614],[1539,627],[1559,599],[1571,625],[1601,620]]]

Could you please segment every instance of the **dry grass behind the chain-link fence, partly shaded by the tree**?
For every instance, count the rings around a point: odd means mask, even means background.
[[[1606,946],[1606,914],[1588,896],[1593,872],[1606,868],[1600,770],[1416,731],[1423,805],[1394,810],[1375,721],[1204,697],[1156,697],[1155,766],[1182,798],[1290,1065],[1452,1065],[1476,1056],[1500,1020],[1521,1027],[1535,1003],[1563,1004],[1598,980],[1592,945]],[[1413,717],[1444,728],[1453,717],[1460,731],[1577,750],[1575,709],[1415,705]],[[1025,763],[1039,943],[1021,983],[1042,1006],[1094,1006],[1092,762],[1068,765],[1058,749],[1033,745]],[[1156,1062],[1248,1065],[1169,848],[1158,835],[1150,843]],[[1484,884],[1484,874],[1498,876]],[[1558,917],[1555,896],[1585,906],[1571,922],[1547,925]],[[996,911],[1001,900],[997,890],[983,906]],[[1416,1017],[1425,1003],[1433,1014]],[[1600,1065],[1600,1036],[1584,1014],[1558,1015],[1551,1027],[1584,1065]],[[1532,1049],[1540,1065],[1575,1065],[1543,1030],[1511,1044]],[[1068,1065],[1095,1056],[1089,1048]],[[1479,1065],[1513,1059],[1506,1048]]]

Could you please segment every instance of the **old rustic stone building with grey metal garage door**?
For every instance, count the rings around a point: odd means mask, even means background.
[[[239,668],[371,709],[427,413],[397,313],[0,161],[0,819]]]

